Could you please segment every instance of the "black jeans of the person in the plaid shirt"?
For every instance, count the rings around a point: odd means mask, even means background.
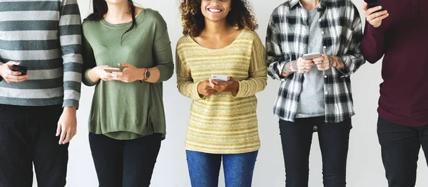
[[[285,163],[285,186],[307,187],[309,154],[313,127],[317,126],[322,154],[322,179],[325,187],[346,186],[347,151],[352,129],[351,119],[325,123],[325,117],[280,120],[282,152]]]

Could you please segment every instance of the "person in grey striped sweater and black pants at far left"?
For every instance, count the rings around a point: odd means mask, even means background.
[[[76,0],[0,0],[0,186],[66,185],[82,63]]]

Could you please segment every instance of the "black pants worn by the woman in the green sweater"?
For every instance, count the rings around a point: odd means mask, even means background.
[[[117,140],[89,133],[89,144],[100,187],[146,187],[161,149],[161,134]]]

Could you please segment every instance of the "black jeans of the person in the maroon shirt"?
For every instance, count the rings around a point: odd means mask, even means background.
[[[428,124],[422,127],[407,127],[379,117],[377,137],[382,148],[382,161],[388,186],[414,186],[421,145],[425,159],[428,158]]]

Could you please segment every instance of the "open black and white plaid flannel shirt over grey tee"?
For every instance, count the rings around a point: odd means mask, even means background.
[[[365,63],[361,18],[350,0],[321,0],[316,9],[320,11],[323,48],[327,55],[342,58],[345,70],[325,70],[324,93],[315,94],[325,95],[325,122],[342,122],[355,114],[350,74]],[[295,120],[304,76],[293,73],[282,78],[282,68],[307,53],[309,35],[307,11],[299,0],[286,1],[272,12],[266,36],[267,73],[281,81],[273,114],[285,121]]]

